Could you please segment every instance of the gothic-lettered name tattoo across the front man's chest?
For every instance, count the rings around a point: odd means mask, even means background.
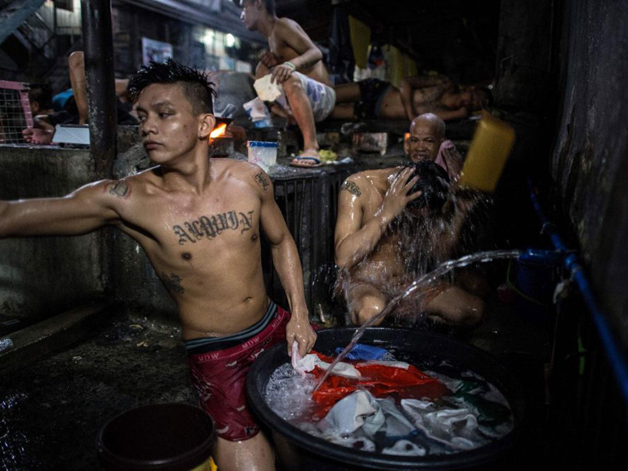
[[[220,236],[225,230],[240,230],[244,234],[252,228],[253,213],[228,211],[214,214],[212,216],[201,216],[197,220],[184,221],[183,224],[173,226],[176,236],[179,237],[179,245],[186,242],[195,244],[200,239],[214,239]]]

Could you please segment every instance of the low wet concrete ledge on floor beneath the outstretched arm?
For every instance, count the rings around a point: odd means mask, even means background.
[[[17,369],[94,335],[115,305],[107,299],[91,301],[0,337],[0,372]]]

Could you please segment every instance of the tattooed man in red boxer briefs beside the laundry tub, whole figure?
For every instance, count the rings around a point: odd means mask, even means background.
[[[85,234],[114,225],[143,247],[176,301],[192,381],[217,423],[221,470],[273,470],[268,441],[247,409],[246,372],[270,345],[316,335],[308,323],[296,245],[259,167],[208,159],[215,124],[207,77],[173,61],[131,79],[139,133],[157,166],[90,183],[63,198],[0,202],[0,238]],[[292,315],[264,288],[261,230]]]

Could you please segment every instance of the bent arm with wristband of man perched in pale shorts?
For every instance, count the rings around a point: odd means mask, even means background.
[[[279,18],[273,33],[276,40],[284,43],[284,46],[295,50],[299,55],[290,59],[295,68],[290,67],[285,62],[276,65],[273,69],[272,81],[283,84],[295,70],[307,70],[319,60],[322,60],[323,53],[315,46],[310,36],[303,31],[303,28],[296,21],[288,18]],[[278,55],[278,51],[273,51],[273,53]]]

